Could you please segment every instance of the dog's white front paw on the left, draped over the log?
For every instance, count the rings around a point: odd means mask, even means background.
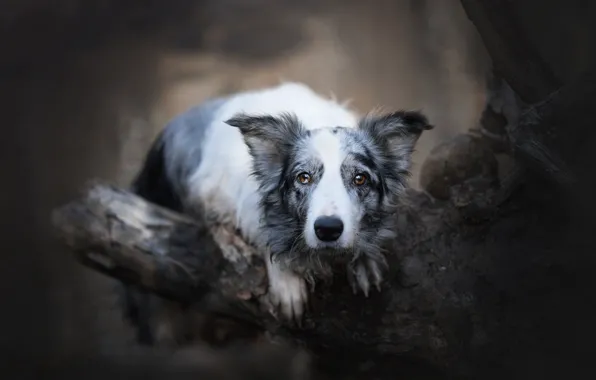
[[[308,302],[306,281],[292,272],[274,271],[269,279],[269,298],[283,317],[299,323]]]

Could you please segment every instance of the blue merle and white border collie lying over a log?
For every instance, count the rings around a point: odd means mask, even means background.
[[[358,117],[301,83],[208,100],[174,118],[132,190],[189,215],[235,226],[265,255],[268,294],[300,320],[326,263],[346,262],[354,292],[379,288],[382,244],[421,133],[418,111]],[[127,316],[150,343],[147,294],[127,290]],[[144,310],[144,311],[143,311]]]

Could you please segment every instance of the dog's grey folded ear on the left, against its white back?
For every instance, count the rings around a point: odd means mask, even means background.
[[[238,128],[242,133],[253,157],[254,174],[261,186],[276,186],[286,157],[304,132],[302,124],[289,114],[277,117],[238,114],[227,120],[226,124]]]

